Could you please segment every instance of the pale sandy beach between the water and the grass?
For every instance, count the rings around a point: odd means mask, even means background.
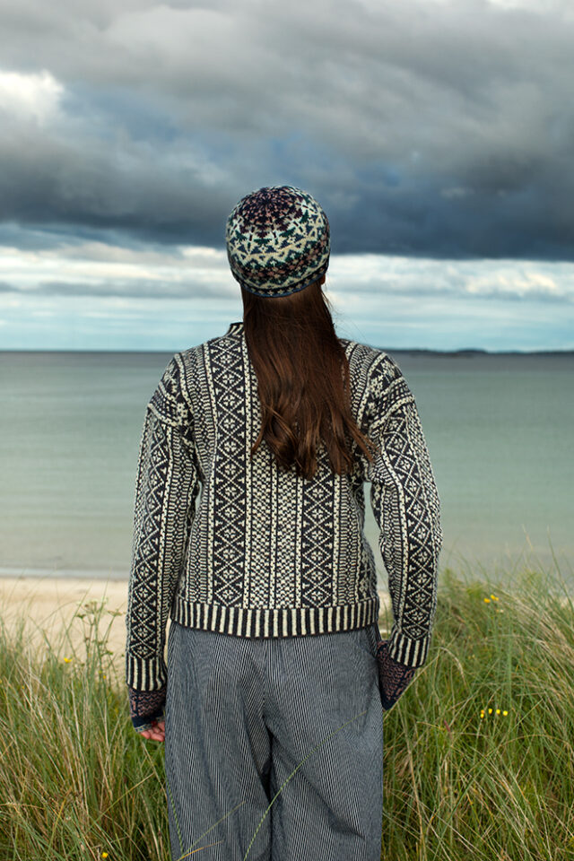
[[[383,608],[387,593],[378,593]],[[84,606],[104,601],[100,620],[100,637],[107,634],[108,648],[120,673],[123,672],[126,648],[127,580],[71,577],[4,577],[0,578],[0,606],[6,631],[16,630],[25,620],[26,639],[30,647],[42,648],[46,640],[60,647],[61,657],[67,657],[74,647],[82,660],[88,617],[80,618]],[[118,613],[114,615],[113,613]],[[88,614],[89,616],[89,614]],[[168,631],[169,631],[168,622]],[[67,629],[67,638],[63,632]],[[385,631],[381,628],[381,634]],[[67,648],[67,652],[66,652]]]

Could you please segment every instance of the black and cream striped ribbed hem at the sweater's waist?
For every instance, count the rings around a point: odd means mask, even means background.
[[[188,603],[176,596],[170,618],[187,628],[219,631],[237,637],[298,637],[365,628],[378,621],[378,596],[360,604],[334,607],[244,608]]]

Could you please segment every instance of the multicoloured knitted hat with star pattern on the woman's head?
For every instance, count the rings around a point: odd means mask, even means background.
[[[289,296],[309,287],[329,265],[329,222],[300,188],[259,188],[243,197],[225,231],[231,273],[257,296]]]

